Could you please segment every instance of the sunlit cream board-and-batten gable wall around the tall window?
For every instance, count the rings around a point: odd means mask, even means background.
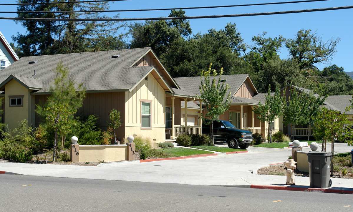
[[[164,142],[166,94],[157,80],[148,74],[131,92],[125,92],[125,136],[137,135],[152,142]],[[151,103],[151,127],[141,126],[141,103]]]

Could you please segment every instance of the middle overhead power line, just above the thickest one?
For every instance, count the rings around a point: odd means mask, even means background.
[[[0,11],[0,13],[139,12],[139,11],[189,10],[189,9],[208,9],[208,8],[224,8],[224,7],[258,6],[258,5],[293,4],[293,3],[315,2],[315,1],[331,1],[331,0],[304,0],[304,1],[270,2],[270,3],[259,3],[259,4],[243,4],[243,5],[223,5],[223,6],[205,6],[205,7],[178,7],[178,8],[138,9],[138,10],[11,11],[11,12]]]

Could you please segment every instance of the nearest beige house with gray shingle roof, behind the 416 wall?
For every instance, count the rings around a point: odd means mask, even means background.
[[[35,105],[46,102],[50,95],[59,61],[71,70],[68,77],[86,88],[84,105],[77,114],[95,114],[98,124],[106,128],[110,110],[120,111],[122,124],[116,132],[120,138],[142,135],[163,142],[170,97],[178,120],[181,100],[197,99],[180,89],[151,48],[22,57],[0,72],[3,120],[9,128],[24,119],[39,125]]]

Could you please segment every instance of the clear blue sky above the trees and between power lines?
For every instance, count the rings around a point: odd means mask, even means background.
[[[117,1],[110,3],[110,10],[127,10],[142,8],[174,8],[174,7],[197,7],[197,6],[216,6],[216,5],[235,5],[235,4],[255,4],[264,2],[280,2],[289,0],[179,0],[179,1]],[[6,3],[16,3],[16,0],[1,0]],[[185,10],[187,16],[205,16],[220,14],[239,14],[239,13],[255,13],[255,12],[274,12],[286,10],[303,10],[323,7],[338,7],[353,5],[351,0],[328,0],[321,2],[307,2],[283,5],[263,5],[263,6],[246,6],[246,7],[229,7],[229,8],[210,8],[198,10]],[[1,11],[16,11],[16,6],[1,6]],[[146,18],[146,17],[167,17],[170,11],[146,11],[146,12],[121,12],[120,18]],[[353,35],[353,9],[280,14],[268,16],[252,16],[252,17],[233,17],[233,18],[208,18],[208,19],[191,19],[190,25],[192,34],[197,32],[205,33],[209,29],[224,29],[227,23],[236,23],[237,29],[243,37],[244,41],[252,45],[251,38],[263,31],[267,31],[267,37],[278,37],[282,35],[285,38],[294,38],[300,29],[311,29],[317,31],[317,35],[322,36],[323,41],[329,40],[331,37],[339,37],[341,41],[337,45],[337,53],[334,59],[327,64],[318,65],[319,69],[326,66],[336,64],[342,66],[345,71],[353,71],[352,60],[352,35]],[[114,16],[114,13],[106,13],[107,16]],[[16,13],[1,13],[2,17],[16,17]],[[20,24],[14,23],[13,20],[0,20],[1,32],[8,42],[13,42],[11,36],[25,34],[26,29]],[[282,59],[288,57],[285,47],[281,49]]]

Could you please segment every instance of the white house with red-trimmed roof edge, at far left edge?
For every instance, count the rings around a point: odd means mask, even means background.
[[[0,71],[18,60],[17,54],[0,32]]]

